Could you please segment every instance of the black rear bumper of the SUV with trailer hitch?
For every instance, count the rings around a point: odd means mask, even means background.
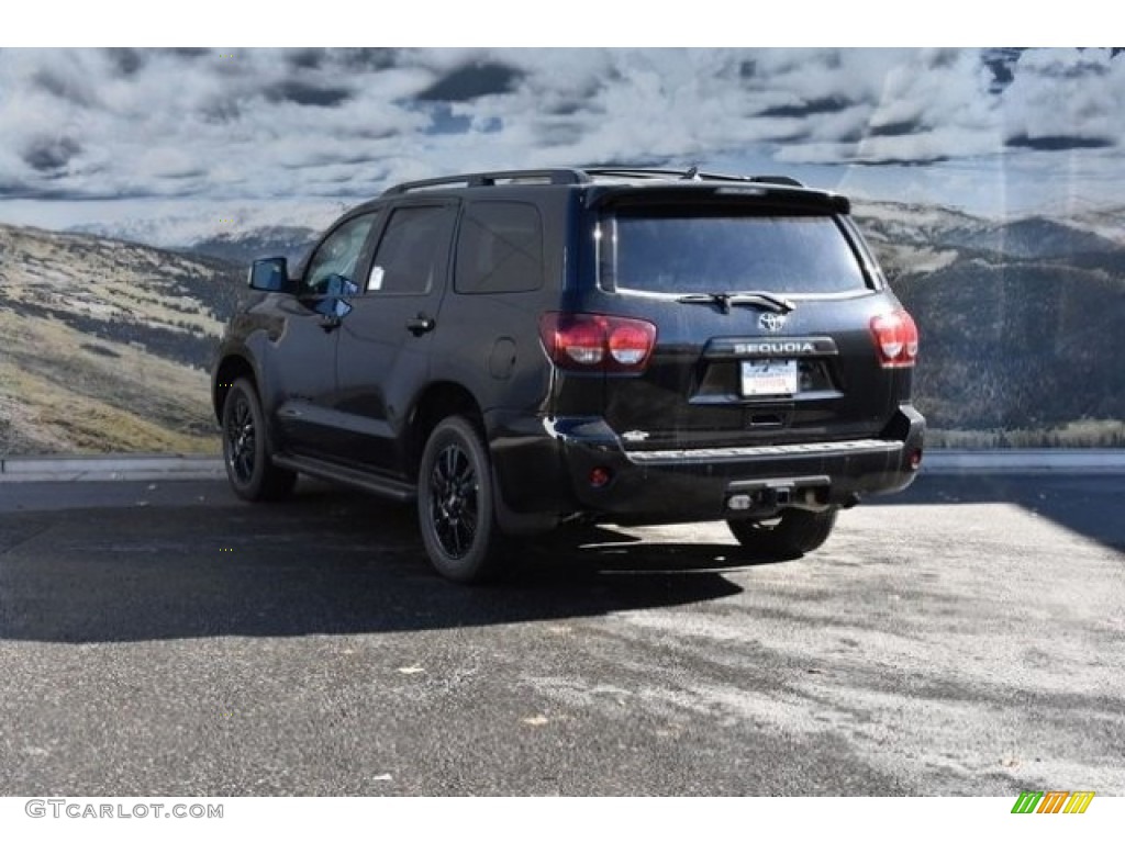
[[[899,491],[917,475],[911,459],[920,456],[926,422],[903,405],[879,438],[666,451],[627,450],[598,418],[555,419],[546,427],[554,447],[540,441],[537,453],[525,451],[519,468],[512,466],[522,483],[504,482],[513,471],[501,471],[510,507],[551,506],[558,514],[658,524],[850,506],[867,495]],[[592,472],[609,481],[592,483]],[[532,488],[521,493],[520,486]]]

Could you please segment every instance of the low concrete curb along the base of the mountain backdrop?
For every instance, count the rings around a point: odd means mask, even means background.
[[[924,474],[1125,474],[1125,448],[927,451]],[[218,480],[217,456],[110,454],[0,459],[0,482],[78,480]]]

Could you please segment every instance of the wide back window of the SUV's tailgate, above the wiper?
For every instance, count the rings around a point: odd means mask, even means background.
[[[663,293],[867,289],[852,244],[830,216],[630,208],[602,221],[602,283],[611,289]]]

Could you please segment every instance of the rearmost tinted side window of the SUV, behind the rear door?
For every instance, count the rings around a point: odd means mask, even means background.
[[[525,202],[471,202],[461,220],[453,289],[526,292],[543,285],[543,224]]]

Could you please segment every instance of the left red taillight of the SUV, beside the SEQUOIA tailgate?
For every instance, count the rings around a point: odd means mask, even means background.
[[[577,371],[639,372],[656,345],[656,326],[602,314],[543,314],[539,335],[557,366]]]

